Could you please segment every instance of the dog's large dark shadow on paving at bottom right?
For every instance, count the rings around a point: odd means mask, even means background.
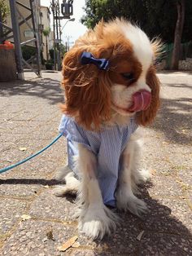
[[[150,183],[148,186],[153,185]],[[190,229],[172,214],[172,208],[179,208],[179,204],[174,202],[172,205],[172,200],[168,203],[168,200],[151,198],[147,186],[142,191],[149,213],[141,219],[120,212],[121,223],[116,232],[104,237],[103,241],[96,241],[98,247],[106,248],[106,253],[105,250],[98,253],[96,249],[96,255],[190,255]],[[188,217],[190,223],[190,213]]]

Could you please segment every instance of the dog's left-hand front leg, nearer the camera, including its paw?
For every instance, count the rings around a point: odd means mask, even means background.
[[[96,178],[97,160],[93,152],[79,144],[79,168],[82,182],[79,229],[91,238],[103,238],[116,228],[116,214],[103,204],[102,193]]]

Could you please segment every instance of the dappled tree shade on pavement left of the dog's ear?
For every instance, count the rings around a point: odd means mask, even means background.
[[[35,98],[48,99],[49,104],[63,102],[63,95],[58,80],[44,78],[34,81],[1,82],[0,96],[28,95]]]

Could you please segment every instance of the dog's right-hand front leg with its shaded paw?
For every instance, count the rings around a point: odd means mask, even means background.
[[[120,170],[119,185],[116,192],[117,207],[120,210],[129,210],[140,216],[147,210],[146,204],[134,195],[137,183],[146,180],[148,174],[139,170],[140,147],[134,137],[129,140],[122,154],[122,170]]]

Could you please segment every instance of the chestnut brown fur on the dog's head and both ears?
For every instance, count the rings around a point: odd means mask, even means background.
[[[62,85],[66,102],[61,107],[62,111],[75,117],[87,130],[97,130],[103,121],[110,120],[111,83],[126,85],[120,73],[134,70],[136,77],[139,77],[142,72],[141,64],[133,56],[133,47],[124,38],[118,22],[120,20],[108,24],[100,22],[94,30],[76,41],[63,60]],[[96,58],[107,58],[110,70],[99,70],[94,64],[82,65],[80,58],[83,51],[91,52]],[[159,108],[159,80],[153,67],[146,79],[152,90],[152,101],[150,108],[136,115],[137,123],[142,126],[151,123]]]

